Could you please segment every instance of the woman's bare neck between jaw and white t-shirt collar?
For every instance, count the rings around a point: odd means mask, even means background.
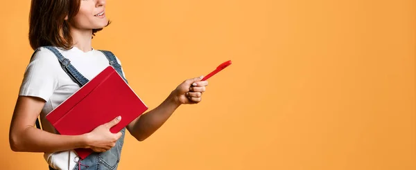
[[[92,30],[73,29],[71,30],[71,36],[73,46],[83,50],[84,52],[92,50]]]

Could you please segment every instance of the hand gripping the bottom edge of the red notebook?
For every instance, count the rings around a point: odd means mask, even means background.
[[[90,133],[86,133],[87,148],[95,152],[105,152],[116,145],[117,140],[121,137],[121,132],[112,133],[110,128],[118,124],[121,116],[114,118],[114,120],[96,127]]]

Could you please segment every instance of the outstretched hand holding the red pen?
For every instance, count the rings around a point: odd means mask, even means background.
[[[177,104],[197,104],[202,100],[207,81],[200,81],[203,76],[187,79],[172,92]]]

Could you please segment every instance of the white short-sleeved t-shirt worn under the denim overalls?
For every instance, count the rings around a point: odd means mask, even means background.
[[[76,47],[70,50],[63,48],[58,50],[89,80],[110,65],[107,57],[99,50],[83,52]],[[121,64],[117,57],[116,59]],[[19,95],[40,97],[45,100],[45,106],[40,113],[42,129],[57,133],[45,117],[79,88],[80,86],[62,69],[55,54],[47,48],[40,48],[26,68]],[[45,153],[44,158],[54,169],[73,169],[76,165],[76,153],[73,151]]]

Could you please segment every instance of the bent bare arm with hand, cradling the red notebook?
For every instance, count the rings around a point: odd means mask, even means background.
[[[38,97],[19,96],[17,98],[9,131],[12,151],[51,153],[76,148],[105,151],[110,149],[121,136],[121,134],[114,134],[109,130],[111,126],[119,122],[117,119],[84,135],[58,135],[37,129],[33,124],[35,124],[44,104],[44,100]]]

